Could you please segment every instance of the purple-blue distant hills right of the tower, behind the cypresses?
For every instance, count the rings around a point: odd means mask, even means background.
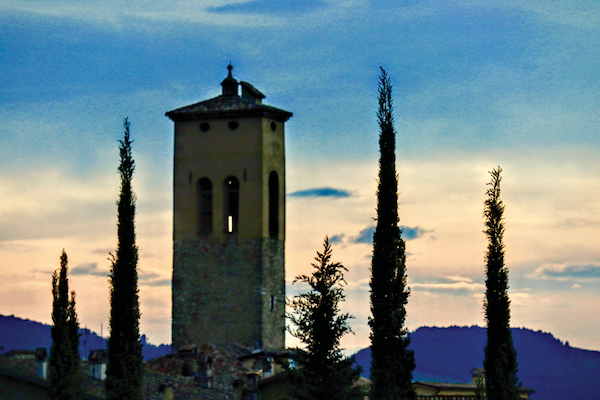
[[[532,400],[597,400],[600,398],[600,352],[570,347],[550,333],[512,328],[522,386],[535,390]],[[416,381],[469,382],[471,370],[483,366],[486,330],[478,326],[421,327],[410,334],[415,351]],[[370,376],[369,348],[355,363]]]

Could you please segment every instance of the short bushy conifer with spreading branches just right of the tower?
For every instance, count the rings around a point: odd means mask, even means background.
[[[354,382],[360,369],[353,369],[354,358],[345,357],[340,339],[351,332],[349,314],[340,314],[339,303],[344,295],[343,271],[338,262],[331,262],[331,245],[325,237],[323,253],[317,251],[312,275],[299,275],[295,282],[310,285],[311,290],[290,301],[293,310],[288,314],[296,327],[291,334],[306,345],[298,353],[296,369],[288,369],[297,400],[348,400],[360,393]],[[359,396],[362,398],[362,396]]]

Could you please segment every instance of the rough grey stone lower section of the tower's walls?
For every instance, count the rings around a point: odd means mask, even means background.
[[[273,239],[175,241],[174,349],[203,343],[283,349],[283,255],[283,242]]]

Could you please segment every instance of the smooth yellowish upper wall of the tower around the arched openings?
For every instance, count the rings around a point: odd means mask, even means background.
[[[228,128],[229,119],[175,124],[174,230],[175,240],[198,237],[197,182],[203,177],[213,185],[213,232],[209,240],[226,236],[224,182],[235,176],[240,183],[239,238],[269,237],[269,174],[279,178],[279,240],[285,234],[284,124],[269,118],[237,118],[239,127]],[[275,131],[271,124],[275,123]]]

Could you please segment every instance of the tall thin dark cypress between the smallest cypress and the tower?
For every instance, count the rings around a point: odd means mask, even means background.
[[[105,390],[107,400],[142,398],[143,358],[137,287],[138,249],[135,245],[135,196],[131,188],[134,161],[129,121],[119,141],[121,190],[117,201],[117,251],[112,256],[110,281],[110,336]]]

